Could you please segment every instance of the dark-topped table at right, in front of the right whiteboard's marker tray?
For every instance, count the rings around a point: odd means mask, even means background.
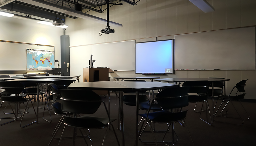
[[[179,83],[179,85],[185,81],[208,81],[211,84],[211,87],[214,88],[214,83],[221,81],[224,83],[224,95],[226,95],[226,87],[225,87],[225,81],[229,81],[230,79],[220,79],[220,78],[165,78],[165,79],[154,79],[155,81],[166,81],[166,82],[170,82],[170,81],[174,81]],[[213,95],[213,90],[211,90],[211,95]],[[213,97],[211,98],[212,101],[212,107],[211,107],[211,123],[213,123]]]

